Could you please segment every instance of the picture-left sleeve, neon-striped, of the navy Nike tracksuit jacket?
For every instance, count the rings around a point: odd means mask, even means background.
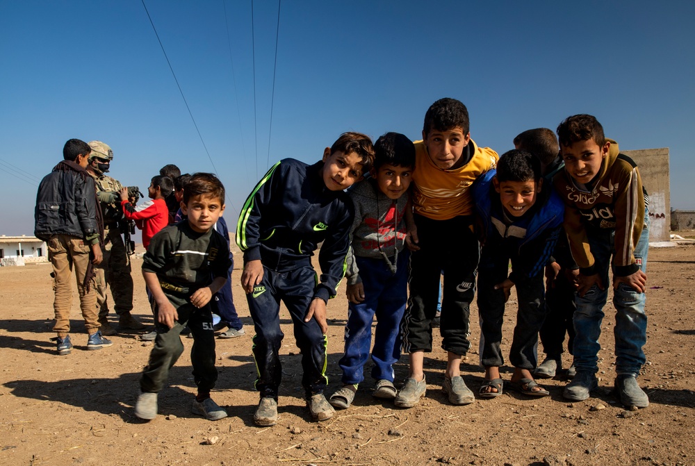
[[[250,260],[261,260],[261,216],[271,215],[272,213],[265,212],[264,207],[273,196],[282,196],[283,194],[282,192],[275,192],[275,188],[281,181],[282,172],[284,172],[283,163],[284,160],[280,160],[273,165],[268,173],[256,183],[239,214],[239,221],[236,224],[236,244],[244,253],[245,263]]]

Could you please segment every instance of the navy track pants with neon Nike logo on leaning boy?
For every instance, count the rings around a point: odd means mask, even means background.
[[[284,338],[280,330],[280,300],[292,317],[297,347],[302,351],[302,385],[306,396],[321,393],[328,385],[327,337],[321,332],[316,319],[304,322],[315,287],[316,272],[311,266],[288,272],[263,267],[263,280],[252,293],[246,295],[256,329],[253,353],[259,374],[256,389],[261,392],[261,398],[277,399],[277,389],[282,379],[278,354]]]

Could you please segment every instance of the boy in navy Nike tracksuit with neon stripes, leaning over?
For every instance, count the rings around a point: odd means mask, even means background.
[[[344,133],[323,153],[322,161],[306,165],[284,159],[263,176],[239,216],[236,242],[244,253],[241,284],[247,292],[256,335],[253,353],[261,401],[254,422],[277,422],[277,392],[281,381],[278,351],[280,300],[294,324],[302,351],[302,385],[313,419],[333,416],[323,395],[327,331],[326,303],[336,294],[345,274],[350,247],[352,202],[343,192],[359,181],[374,159],[372,142],[360,133]],[[311,256],[323,241],[316,276]]]

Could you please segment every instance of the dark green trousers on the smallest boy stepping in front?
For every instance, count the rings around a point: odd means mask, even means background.
[[[170,303],[177,308],[179,320],[173,328],[157,322],[158,308],[153,298],[150,298],[154,310],[154,322],[157,338],[154,348],[149,353],[149,362],[142,371],[140,390],[142,392],[160,392],[169,377],[170,369],[176,364],[183,353],[181,330],[186,325],[193,334],[193,347],[190,349],[190,364],[193,365],[193,380],[198,387],[198,393],[207,394],[215,387],[218,371],[215,367],[215,334],[213,332],[213,317],[208,303],[203,308],[196,308],[188,297],[167,294]]]

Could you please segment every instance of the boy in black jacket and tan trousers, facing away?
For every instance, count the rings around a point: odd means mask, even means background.
[[[101,336],[97,320],[97,290],[94,265],[101,263],[99,243],[104,221],[97,203],[94,180],[85,170],[92,149],[79,139],[63,147],[63,158],[39,185],[34,211],[34,235],[47,242],[55,280],[54,310],[58,354],[72,351],[70,342],[70,279],[74,266],[80,308],[89,334],[87,349],[111,346]]]

